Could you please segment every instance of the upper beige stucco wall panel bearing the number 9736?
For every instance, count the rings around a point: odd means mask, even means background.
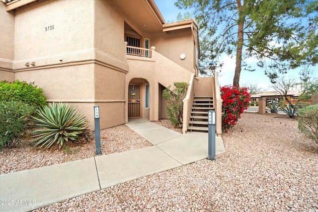
[[[15,60],[92,48],[93,5],[89,0],[41,0],[16,9]]]

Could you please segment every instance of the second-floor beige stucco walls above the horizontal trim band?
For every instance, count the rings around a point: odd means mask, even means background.
[[[24,70],[34,68],[26,65],[32,61],[35,66],[53,66],[98,60],[129,71],[125,45],[128,35],[139,37],[141,47],[155,46],[158,53],[195,73],[198,44],[191,28],[163,32],[161,26],[143,30],[114,2],[38,0],[9,12],[1,4],[0,60],[6,63],[1,62],[1,66]],[[155,14],[144,15],[155,19]],[[184,60],[181,54],[186,56]]]

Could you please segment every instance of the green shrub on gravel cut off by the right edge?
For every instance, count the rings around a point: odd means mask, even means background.
[[[299,110],[298,130],[318,143],[318,104]]]

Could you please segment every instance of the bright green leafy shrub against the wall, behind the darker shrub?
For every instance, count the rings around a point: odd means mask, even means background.
[[[34,85],[34,82],[19,80],[0,81],[0,101],[21,101],[37,107],[46,105],[42,88]]]

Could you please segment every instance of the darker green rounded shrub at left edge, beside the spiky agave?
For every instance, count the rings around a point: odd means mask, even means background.
[[[0,101],[0,149],[19,144],[34,112],[35,107],[22,102]]]

